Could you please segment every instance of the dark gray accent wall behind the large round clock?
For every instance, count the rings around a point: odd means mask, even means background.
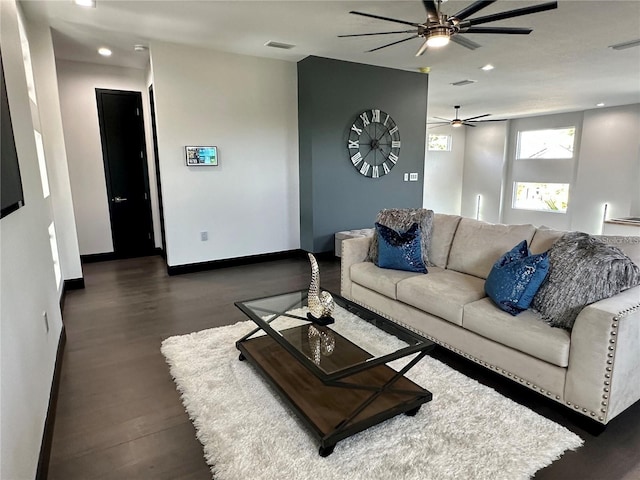
[[[300,247],[333,250],[334,234],[372,228],[383,208],[422,206],[428,75],[307,57],[298,63]],[[402,147],[381,178],[361,175],[347,149],[358,114],[379,108],[395,120]],[[417,182],[404,174],[417,172]]]

